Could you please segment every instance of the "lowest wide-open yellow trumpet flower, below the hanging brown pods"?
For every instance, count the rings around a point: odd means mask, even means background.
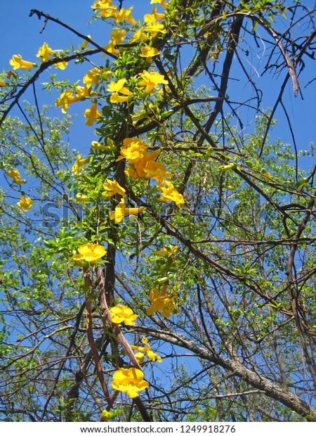
[[[139,397],[138,391],[144,390],[149,383],[144,380],[144,373],[138,368],[120,368],[113,374],[113,389],[126,392],[131,398]]]

